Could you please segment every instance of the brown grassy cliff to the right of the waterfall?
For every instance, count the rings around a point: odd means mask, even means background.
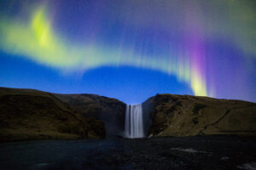
[[[143,103],[149,136],[255,135],[256,104],[239,100],[157,94]]]

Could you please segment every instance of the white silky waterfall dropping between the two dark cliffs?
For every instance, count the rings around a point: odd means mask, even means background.
[[[125,111],[125,137],[143,138],[143,106],[126,105]]]

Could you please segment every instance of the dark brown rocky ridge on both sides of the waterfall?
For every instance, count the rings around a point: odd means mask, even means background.
[[[255,135],[256,104],[157,94],[143,102],[151,136]],[[100,139],[122,135],[125,103],[95,94],[0,88],[0,141]]]

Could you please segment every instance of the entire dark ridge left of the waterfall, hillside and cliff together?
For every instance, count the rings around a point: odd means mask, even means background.
[[[124,105],[117,99],[91,94],[0,88],[0,141],[101,139],[106,135],[104,124],[108,127],[113,116],[124,122],[125,116],[113,111],[114,107],[122,111]]]

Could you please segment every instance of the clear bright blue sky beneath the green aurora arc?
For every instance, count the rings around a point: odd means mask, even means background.
[[[127,104],[142,103],[157,93],[193,94],[189,86],[177,81],[177,77],[160,71],[105,66],[83,74],[64,75],[8,54],[1,53],[0,62],[4,70],[0,73],[1,80],[4,80],[2,87],[34,88],[59,94],[100,94]]]

